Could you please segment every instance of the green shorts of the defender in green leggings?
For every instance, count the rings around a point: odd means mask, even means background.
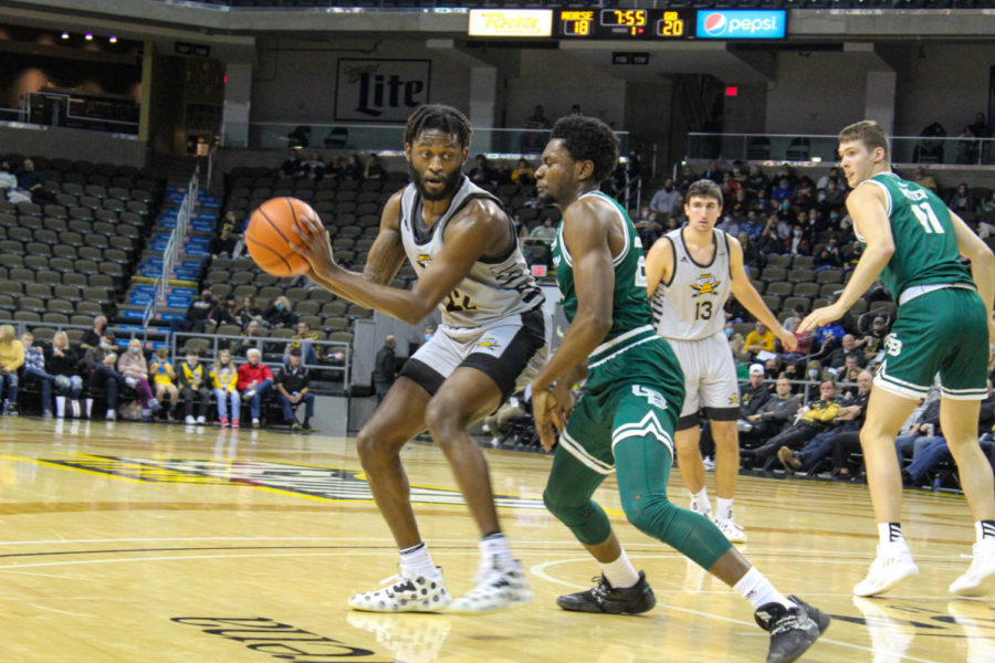
[[[667,341],[651,326],[646,330],[591,355],[585,393],[559,436],[565,451],[599,474],[614,471],[615,445],[627,438],[654,438],[673,457],[684,380]]]

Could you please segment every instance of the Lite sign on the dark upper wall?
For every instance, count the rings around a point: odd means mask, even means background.
[[[411,112],[429,103],[429,60],[338,61],[335,119],[404,124]]]

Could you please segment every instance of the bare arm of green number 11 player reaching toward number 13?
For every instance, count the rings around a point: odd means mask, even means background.
[[[867,241],[867,248],[839,299],[808,314],[798,332],[810,332],[841,318],[884,271],[894,254],[894,238],[887,210],[884,192],[879,187],[858,186],[847,198],[847,211],[853,219],[853,227]]]

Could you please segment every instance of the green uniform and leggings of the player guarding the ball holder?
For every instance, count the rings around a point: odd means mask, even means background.
[[[709,568],[731,544],[711,520],[667,499],[684,378],[673,350],[652,324],[642,245],[615,200],[600,192],[585,197],[612,206],[626,243],[612,260],[611,329],[588,359],[586,391],[559,438],[543,497],[583,544],[600,544],[611,528],[590,496],[614,471],[629,522]],[[577,293],[563,223],[553,242],[553,264],[564,312],[573,320]]]

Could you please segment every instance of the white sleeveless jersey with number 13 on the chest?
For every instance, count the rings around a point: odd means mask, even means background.
[[[652,296],[657,333],[680,340],[699,340],[721,333],[725,327],[723,307],[732,281],[729,239],[721,230],[713,230],[712,262],[701,265],[688,251],[681,229],[664,236],[670,240],[673,267],[670,282],[661,281]]]

